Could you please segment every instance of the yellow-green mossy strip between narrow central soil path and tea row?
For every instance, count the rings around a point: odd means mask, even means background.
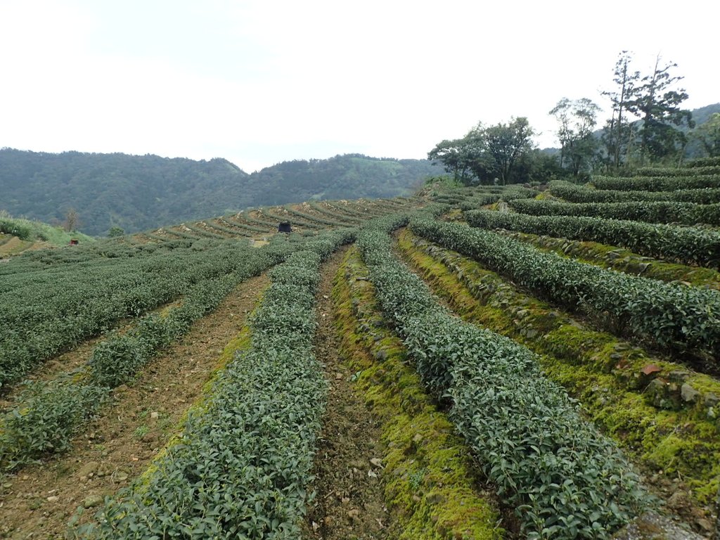
[[[385,497],[398,523],[393,537],[502,538],[494,498],[478,489],[467,448],[406,364],[355,249],[338,271],[333,303],[343,357],[382,423]]]

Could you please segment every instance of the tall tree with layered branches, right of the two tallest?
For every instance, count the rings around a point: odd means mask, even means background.
[[[675,126],[694,127],[692,113],[680,109],[688,94],[684,89],[671,87],[683,77],[671,76],[670,70],[678,64],[667,63],[660,67],[660,55],[655,58],[651,75],[642,78],[636,89],[635,99],[629,102],[628,110],[642,118],[639,129],[640,158],[658,161],[672,156],[688,142],[685,134]]]

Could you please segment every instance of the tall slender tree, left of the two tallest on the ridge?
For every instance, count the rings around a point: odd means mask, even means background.
[[[615,63],[615,71],[613,71],[613,81],[617,90],[603,91],[603,96],[610,98],[613,112],[603,128],[601,139],[605,143],[608,165],[614,169],[624,163],[635,138],[633,125],[628,118],[628,107],[636,98],[640,72],[630,70],[631,60],[631,53],[627,50],[621,51],[618,61]]]

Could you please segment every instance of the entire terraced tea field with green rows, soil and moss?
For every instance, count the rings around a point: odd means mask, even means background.
[[[0,537],[711,538],[720,177],[690,170],[13,256]]]

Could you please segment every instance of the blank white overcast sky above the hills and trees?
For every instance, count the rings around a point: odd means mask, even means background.
[[[611,89],[657,53],[720,102],[716,1],[0,0],[0,147],[223,157],[252,172],[440,140]],[[605,115],[601,116],[600,124]]]

